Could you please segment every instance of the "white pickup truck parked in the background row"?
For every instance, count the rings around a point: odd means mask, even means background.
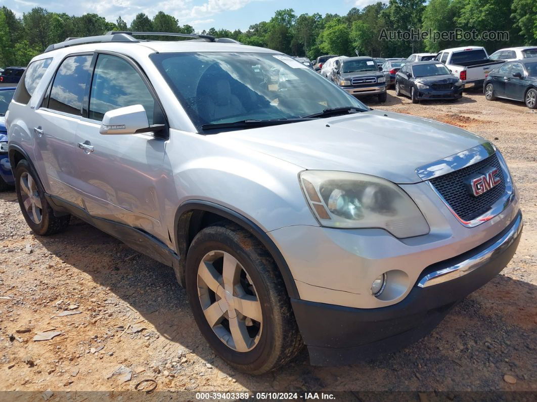
[[[504,63],[504,60],[490,60],[487,50],[480,46],[441,50],[434,60],[444,63],[449,71],[460,78],[465,88],[483,86],[485,75],[496,65]]]

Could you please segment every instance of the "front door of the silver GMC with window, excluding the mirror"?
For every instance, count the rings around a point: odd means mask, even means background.
[[[77,131],[76,142],[91,147],[91,151],[88,147],[76,150],[78,188],[92,216],[141,228],[164,241],[168,232],[161,225],[164,204],[159,202],[157,188],[172,174],[170,165],[164,163],[165,136],[99,134],[107,111],[140,104],[150,125],[166,124],[162,107],[140,68],[125,56],[100,53],[88,115]]]

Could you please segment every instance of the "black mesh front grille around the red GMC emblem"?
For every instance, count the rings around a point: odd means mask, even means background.
[[[489,167],[498,169],[497,177],[502,181],[489,191],[474,196],[468,188],[470,176],[481,174]],[[505,193],[505,176],[496,154],[473,165],[431,179],[431,184],[444,197],[455,213],[465,221],[471,221],[486,213],[492,204]]]

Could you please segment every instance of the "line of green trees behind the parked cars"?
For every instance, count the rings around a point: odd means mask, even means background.
[[[508,40],[459,41],[382,40],[382,30],[502,31]],[[0,8],[0,65],[26,65],[51,43],[69,37],[101,35],[107,31],[194,33],[190,25],[159,11],[153,18],[139,13],[126,23],[121,17],[107,21],[98,14],[69,16],[36,7],[18,18],[10,9]],[[217,38],[232,38],[246,45],[268,47],[310,59],[322,54],[407,57],[467,45],[480,45],[489,53],[507,46],[537,45],[537,1],[535,0],[389,0],[363,9],[352,8],[346,15],[300,14],[293,9],[278,10],[269,21],[250,25],[248,30],[211,28],[199,32]],[[169,40],[169,38],[167,39]]]

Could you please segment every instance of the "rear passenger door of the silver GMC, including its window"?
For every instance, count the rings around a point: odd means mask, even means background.
[[[93,54],[70,55],[64,59],[35,112],[35,141],[41,152],[50,193],[83,206],[79,188],[79,152],[76,130],[91,78]]]

